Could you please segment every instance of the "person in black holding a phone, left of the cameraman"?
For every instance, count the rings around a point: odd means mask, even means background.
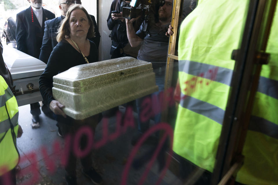
[[[114,0],[111,4],[111,8],[109,11],[109,16],[107,18],[107,26],[109,30],[112,30],[109,37],[111,37],[112,45],[110,49],[111,58],[119,58],[123,56],[137,56],[138,49],[134,51],[131,55],[127,55],[124,51],[124,47],[127,46],[130,48],[130,44],[128,44],[127,39],[127,29],[125,24],[125,18],[122,17],[121,7],[128,6],[130,1],[125,0]]]

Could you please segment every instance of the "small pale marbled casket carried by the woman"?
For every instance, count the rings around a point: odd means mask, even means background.
[[[78,120],[158,91],[152,64],[132,57],[72,67],[53,86],[65,114]]]

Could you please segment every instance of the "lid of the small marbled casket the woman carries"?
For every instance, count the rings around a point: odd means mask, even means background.
[[[121,57],[72,67],[54,76],[53,86],[72,92],[84,92],[152,71],[150,62]]]

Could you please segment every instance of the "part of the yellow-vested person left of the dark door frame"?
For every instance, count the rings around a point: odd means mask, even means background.
[[[231,53],[240,44],[247,7],[247,0],[207,0],[199,1],[189,15],[188,9],[182,13],[173,151],[182,161],[183,178],[193,171],[188,165],[205,170],[200,184],[209,184],[214,169],[235,65]]]

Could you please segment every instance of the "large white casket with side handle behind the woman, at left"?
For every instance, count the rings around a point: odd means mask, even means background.
[[[18,106],[42,101],[39,77],[46,64],[7,45],[3,45],[3,59],[12,74]]]

